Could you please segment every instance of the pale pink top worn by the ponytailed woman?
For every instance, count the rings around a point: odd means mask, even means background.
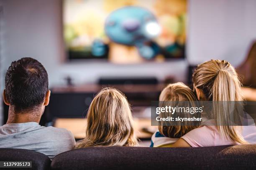
[[[212,120],[207,120],[206,122],[212,122]],[[242,131],[243,138],[251,144],[256,143],[256,126],[249,125],[243,126]],[[232,140],[222,138],[218,132],[217,126],[205,125],[200,128],[191,130],[186,135],[182,136],[186,142],[192,147],[202,147],[202,146],[218,146],[218,145],[238,145]]]

